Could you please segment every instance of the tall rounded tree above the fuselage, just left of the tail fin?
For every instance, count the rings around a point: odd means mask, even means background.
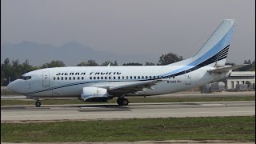
[[[169,53],[169,54],[162,54],[159,58],[158,65],[169,65],[170,63],[178,62],[183,59],[182,56],[178,56],[177,54]]]

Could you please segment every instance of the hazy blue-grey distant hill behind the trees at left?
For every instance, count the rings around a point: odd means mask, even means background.
[[[158,62],[158,58],[145,55],[114,54],[106,51],[95,51],[89,46],[83,46],[78,42],[66,42],[62,46],[40,44],[36,42],[4,43],[1,46],[1,63],[6,58],[19,59],[20,62],[29,60],[34,66],[41,66],[52,60],[61,60],[66,66],[74,66],[80,62],[94,59],[101,64],[105,61],[117,60],[118,65],[126,62]]]

